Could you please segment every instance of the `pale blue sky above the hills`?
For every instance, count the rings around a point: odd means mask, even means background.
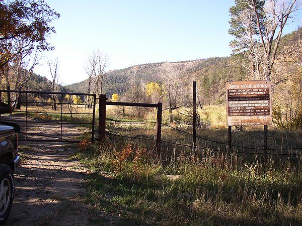
[[[46,59],[58,58],[61,84],[85,80],[87,58],[97,49],[107,70],[132,65],[229,56],[234,0],[46,0],[60,14],[35,72],[50,77]],[[302,12],[283,34],[302,26]]]

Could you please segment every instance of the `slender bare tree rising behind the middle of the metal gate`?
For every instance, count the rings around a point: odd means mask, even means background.
[[[59,87],[58,58],[55,58],[54,60],[47,59],[47,65],[48,65],[49,73],[51,75],[51,80],[49,80],[48,82],[48,87],[50,88],[51,92],[57,92]],[[56,105],[57,94],[52,93],[51,97],[53,100],[53,109],[57,110],[57,105]]]

